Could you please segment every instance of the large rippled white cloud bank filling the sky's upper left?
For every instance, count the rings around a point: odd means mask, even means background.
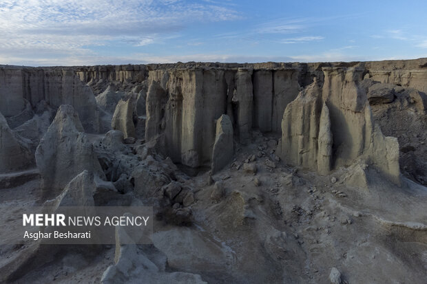
[[[179,36],[186,25],[240,19],[220,3],[180,0],[28,0],[0,2],[2,62],[25,58],[45,62],[94,55],[89,46],[119,41],[132,46]],[[6,60],[5,60],[6,58]]]

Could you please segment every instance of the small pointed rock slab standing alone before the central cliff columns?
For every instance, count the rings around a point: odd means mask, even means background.
[[[215,136],[212,151],[212,173],[220,171],[233,159],[233,124],[231,124],[229,116],[223,114],[217,120]]]

